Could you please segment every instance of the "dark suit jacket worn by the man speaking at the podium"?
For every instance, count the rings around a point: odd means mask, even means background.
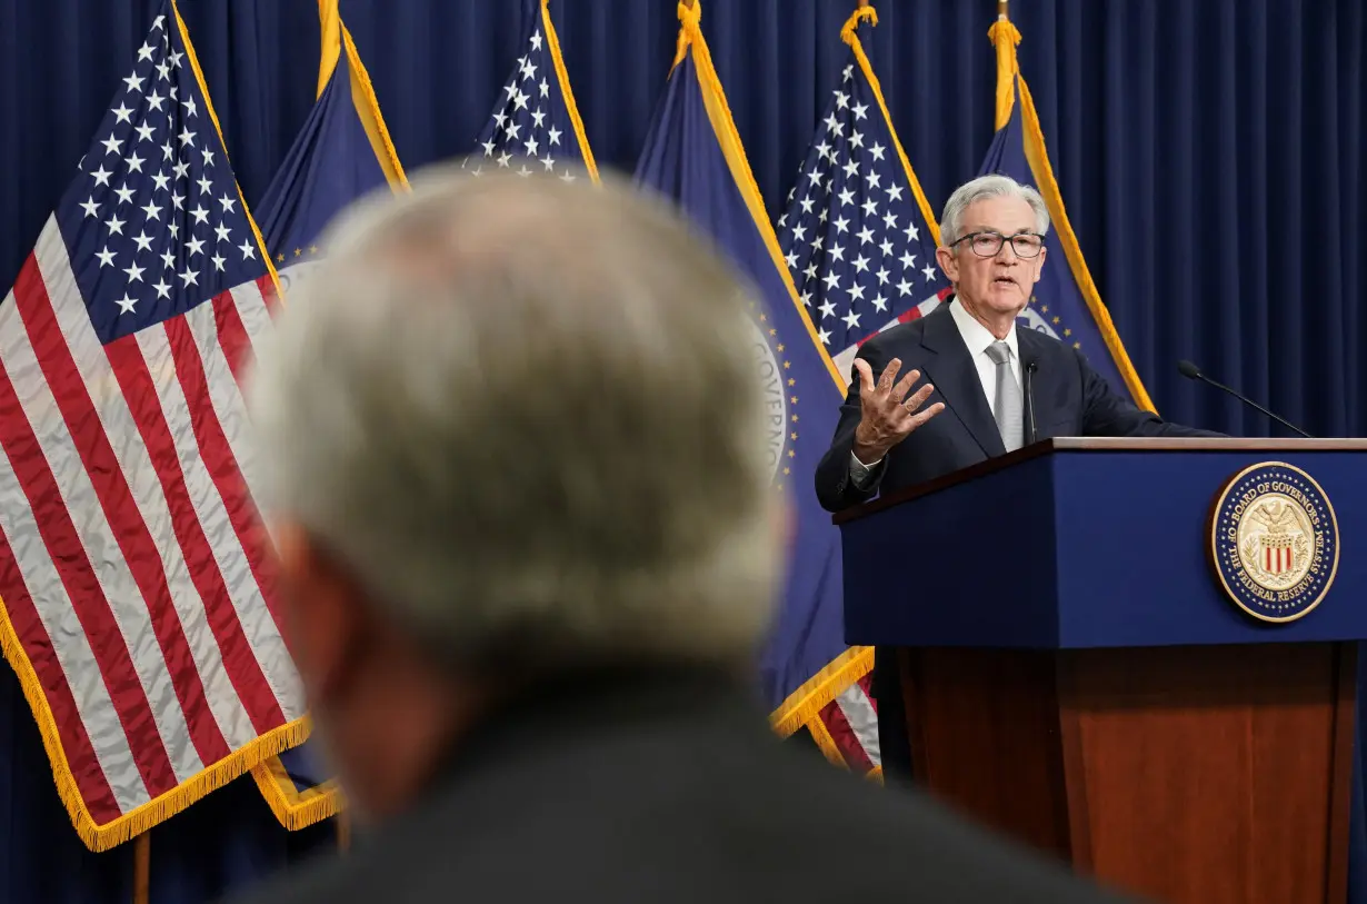
[[[1031,377],[1033,412],[1027,401],[1025,442],[1050,436],[1218,436],[1159,420],[1111,391],[1087,360],[1058,339],[1033,330],[1017,330],[1023,365],[1035,362]],[[850,451],[860,421],[858,377],[841,406],[831,449],[816,468],[816,496],[828,511],[865,502],[1002,455],[1002,436],[992,420],[977,369],[949,310],[940,305],[920,320],[893,327],[869,339],[858,351],[876,382],[893,358],[902,360],[898,376],[919,369],[935,386],[925,402],[945,402],[945,410],[898,443],[875,472],[875,483],[858,490],[850,481]],[[1028,397],[1027,397],[1028,398]],[[1032,421],[1033,414],[1033,421]]]

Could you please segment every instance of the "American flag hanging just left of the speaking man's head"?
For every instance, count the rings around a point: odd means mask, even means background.
[[[864,7],[845,25],[849,63],[778,220],[783,260],[846,386],[861,342],[930,313],[949,294],[935,263],[930,208],[858,40],[857,27],[869,19],[876,22],[874,10]],[[827,755],[834,748],[850,769],[879,769],[878,704],[868,676],[808,728]]]

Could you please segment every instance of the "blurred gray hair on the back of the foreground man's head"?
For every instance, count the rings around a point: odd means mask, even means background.
[[[321,243],[249,390],[268,516],[458,667],[753,651],[782,540],[718,253],[625,182],[458,167]]]

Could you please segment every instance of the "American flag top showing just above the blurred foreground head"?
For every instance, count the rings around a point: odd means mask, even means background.
[[[525,53],[509,75],[493,115],[478,138],[478,155],[466,161],[474,175],[507,168],[522,175],[559,174],[573,182],[581,174],[597,178],[593,153],[560,57],[550,0],[526,0]]]

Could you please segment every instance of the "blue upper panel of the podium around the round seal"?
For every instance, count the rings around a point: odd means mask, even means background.
[[[1210,563],[1221,490],[1304,470],[1333,506],[1329,591],[1304,617],[1245,614]],[[1367,454],[1055,450],[842,525],[852,644],[1095,648],[1367,639]]]

